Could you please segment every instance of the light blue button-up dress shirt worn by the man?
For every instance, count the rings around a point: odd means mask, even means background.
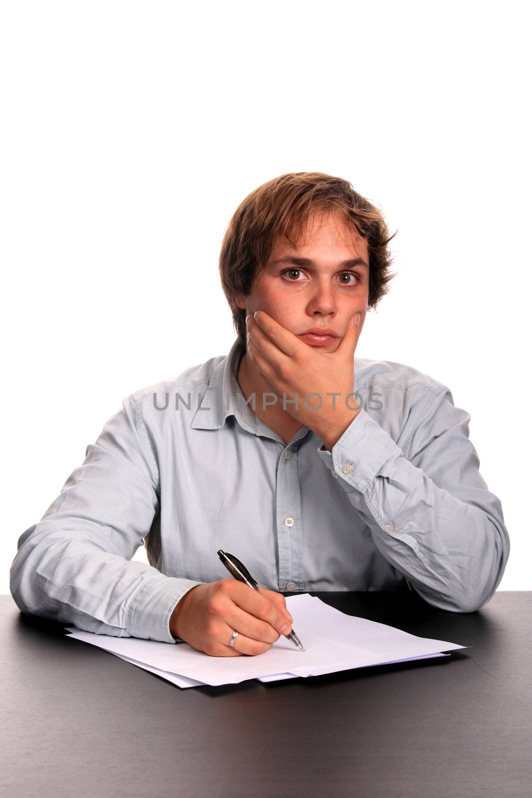
[[[416,590],[471,612],[510,540],[479,473],[470,416],[408,365],[355,357],[361,412],[332,452],[289,444],[236,381],[242,346],[124,400],[41,521],[18,539],[18,607],[98,634],[174,642],[191,587],[230,551],[272,591]],[[148,562],[132,561],[145,543]]]

